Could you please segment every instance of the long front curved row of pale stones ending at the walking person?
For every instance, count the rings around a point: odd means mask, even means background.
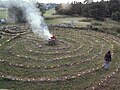
[[[29,78],[29,77],[19,77],[19,76],[5,75],[5,74],[1,75],[1,77],[5,78],[5,79],[10,79],[13,81],[17,80],[17,81],[23,81],[23,82],[64,81],[64,80],[69,80],[69,79],[74,79],[74,78],[80,77],[84,74],[89,74],[93,71],[101,69],[102,67],[103,67],[103,65],[101,65],[97,68],[88,69],[83,72],[78,72],[73,75],[67,75],[67,76],[61,76],[61,77],[55,77],[55,78],[48,78],[48,77],[47,78],[45,78],[45,77]]]

